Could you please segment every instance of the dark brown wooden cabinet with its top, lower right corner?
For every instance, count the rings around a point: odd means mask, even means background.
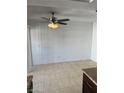
[[[91,70],[91,72],[89,72],[90,70]],[[93,72],[93,70],[94,69],[89,69],[86,71],[84,70],[84,72],[83,72],[83,87],[82,87],[83,91],[82,91],[82,93],[97,93],[96,78],[94,79],[96,72]],[[89,73],[87,73],[87,71]]]

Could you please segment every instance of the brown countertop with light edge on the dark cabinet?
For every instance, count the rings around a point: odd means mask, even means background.
[[[86,74],[97,85],[97,67],[82,69],[83,73]]]

